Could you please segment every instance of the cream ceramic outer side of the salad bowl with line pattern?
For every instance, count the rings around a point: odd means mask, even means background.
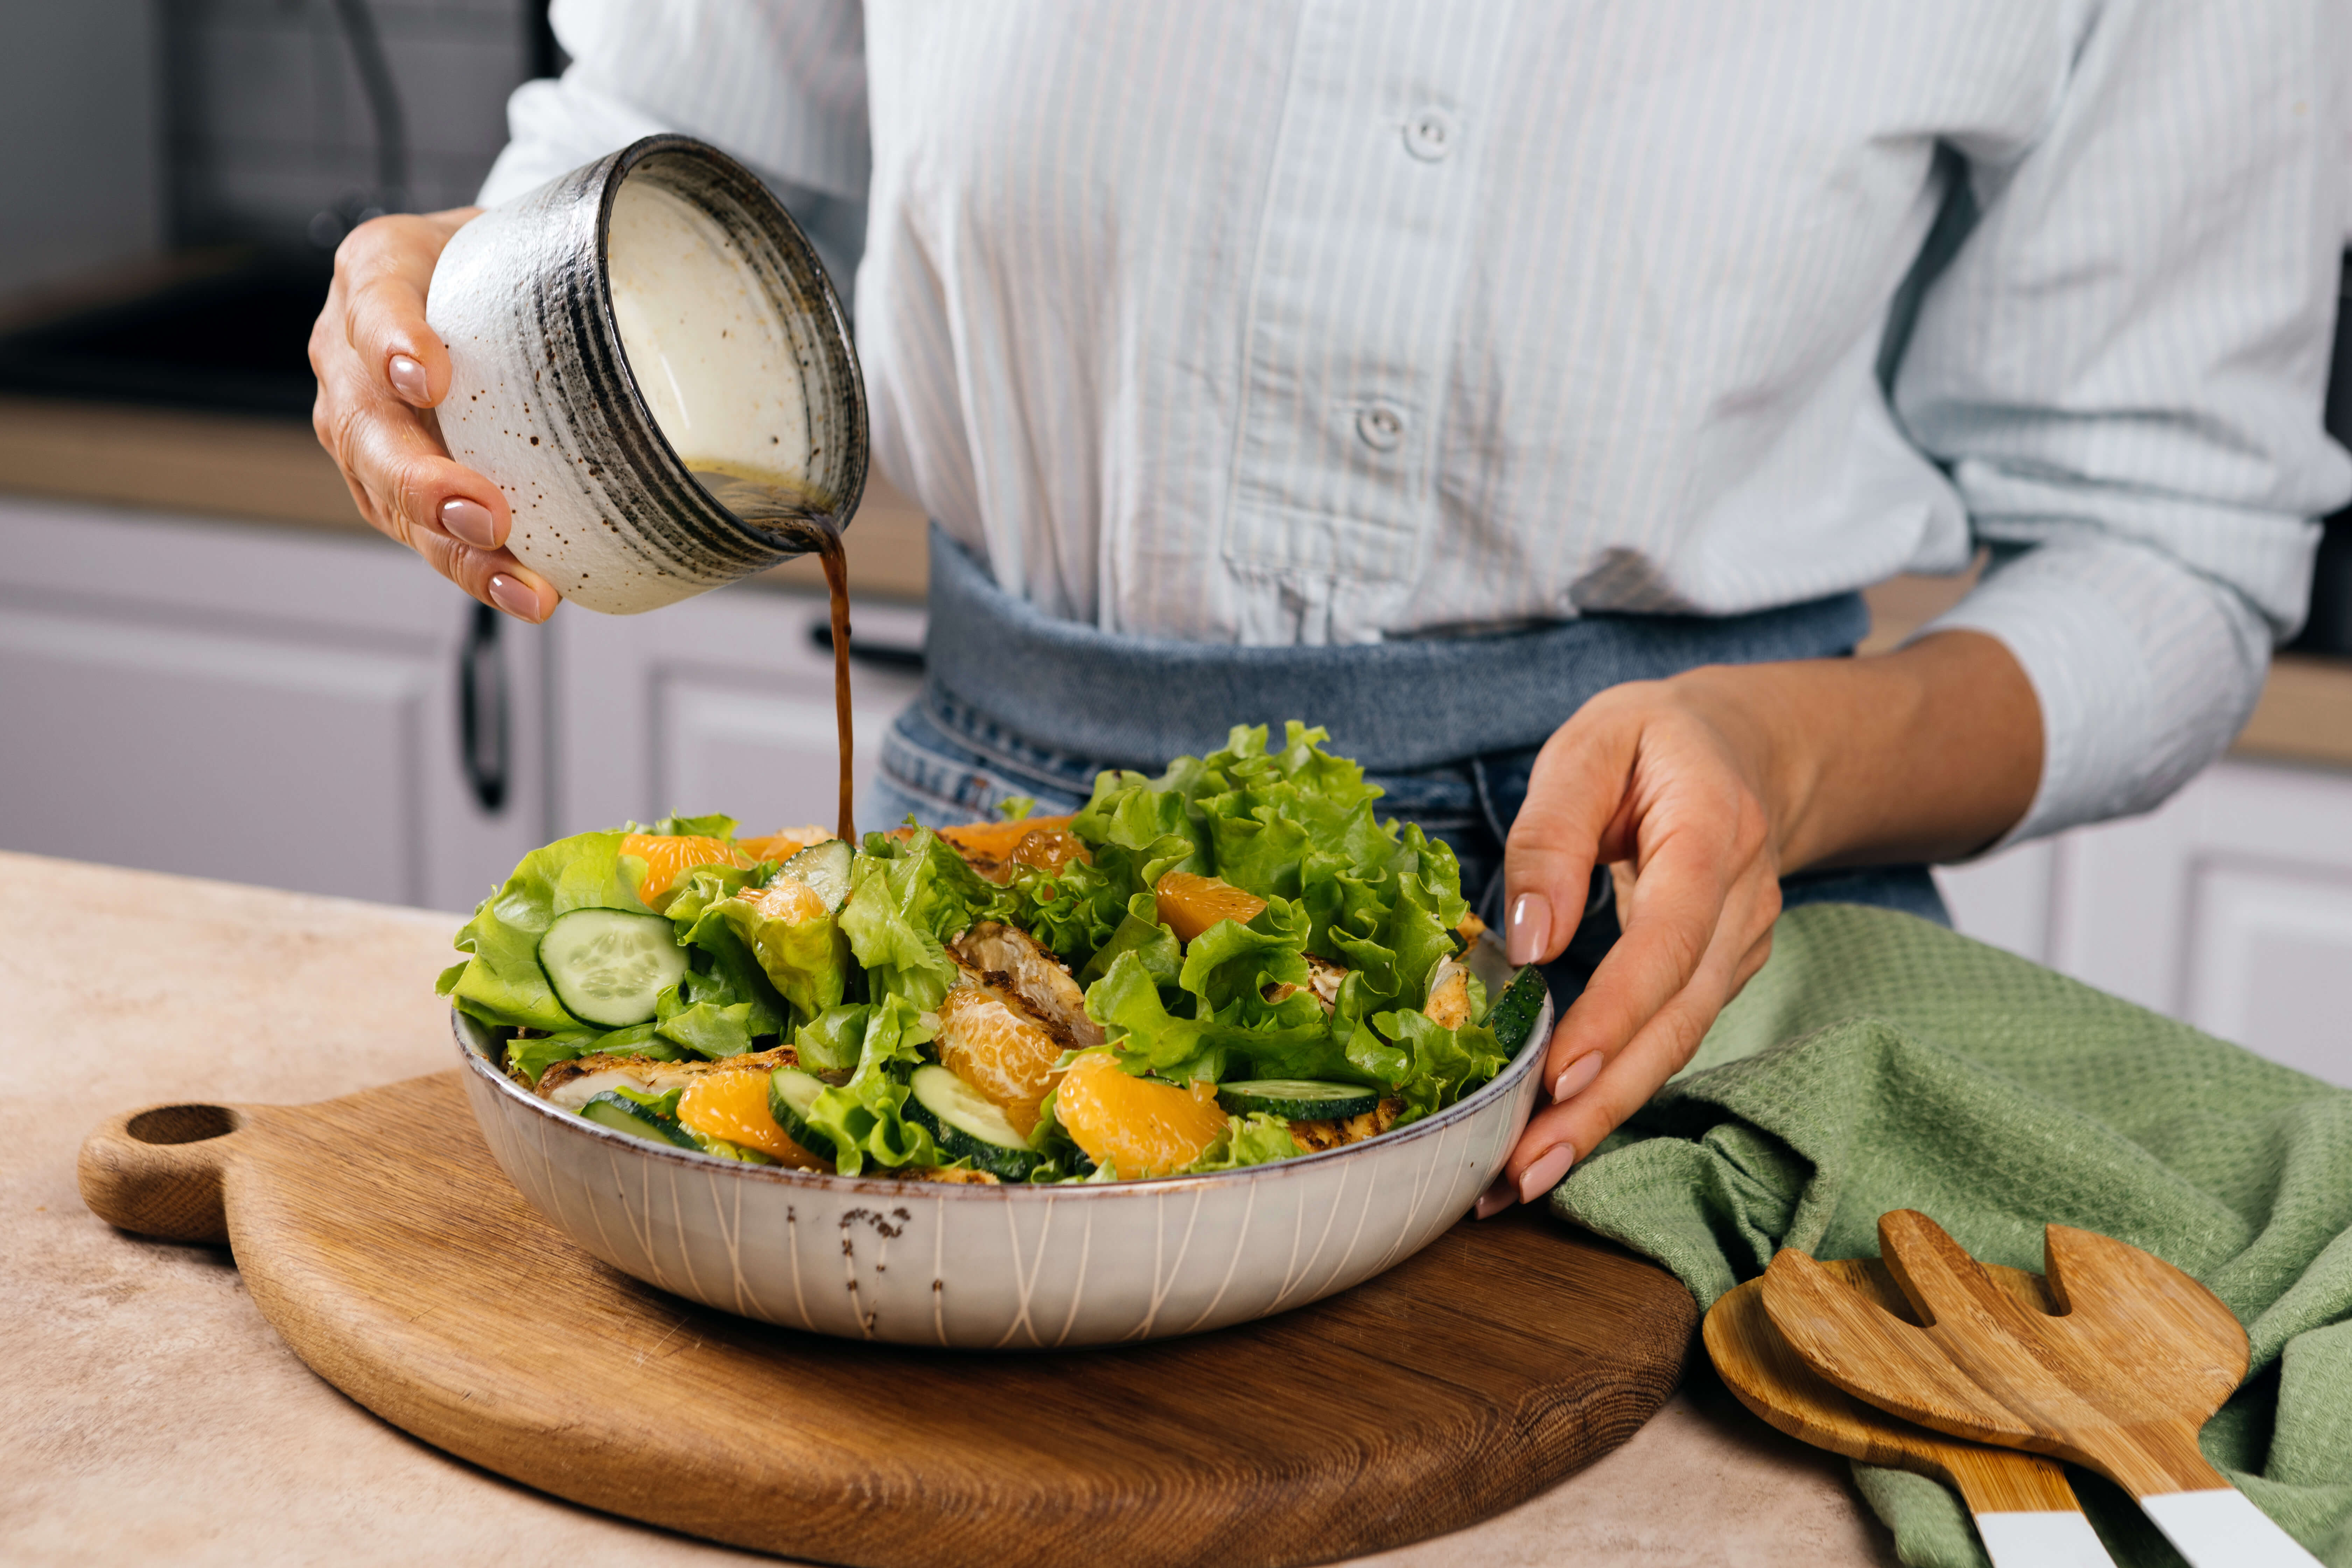
[[[515,1086],[452,1013],[466,1093],[529,1204],[649,1286],[849,1340],[1051,1349],[1202,1333],[1303,1307],[1463,1218],[1534,1110],[1534,1037],[1428,1121],[1218,1175],[962,1187],[743,1166],[607,1131]]]

